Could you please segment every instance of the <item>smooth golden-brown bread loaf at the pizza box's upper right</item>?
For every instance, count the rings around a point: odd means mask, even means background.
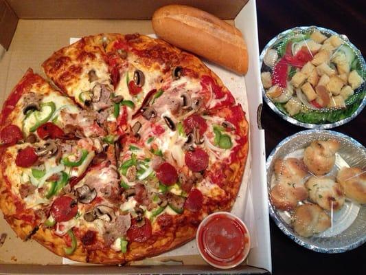
[[[248,52],[242,33],[208,12],[187,5],[165,5],[152,16],[161,39],[237,74],[248,71]]]

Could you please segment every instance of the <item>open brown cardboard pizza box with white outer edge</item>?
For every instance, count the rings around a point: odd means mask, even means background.
[[[265,177],[264,130],[260,127],[262,93],[258,28],[253,0],[0,0],[0,104],[25,71],[41,73],[41,63],[71,37],[101,32],[152,34],[150,18],[159,7],[183,3],[201,8],[235,24],[242,31],[249,52],[249,72],[244,77],[250,121],[251,176],[248,189],[253,201],[255,247],[245,263],[232,270],[217,270],[201,256],[176,256],[166,260],[183,265],[136,266],[65,265],[62,258],[35,241],[17,238],[0,214],[0,234],[8,234],[0,247],[1,274],[264,274],[271,272],[271,241]],[[259,113],[258,113],[259,112]],[[168,262],[170,263],[170,262]]]

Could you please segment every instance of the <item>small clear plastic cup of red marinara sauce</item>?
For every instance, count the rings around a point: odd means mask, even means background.
[[[206,217],[198,227],[196,243],[207,263],[223,269],[242,263],[251,247],[247,227],[229,212]]]

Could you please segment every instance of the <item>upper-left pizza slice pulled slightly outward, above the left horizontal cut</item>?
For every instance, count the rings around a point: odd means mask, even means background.
[[[96,113],[81,110],[32,69],[27,70],[5,101],[0,120],[1,142],[8,145],[19,140],[106,135]]]

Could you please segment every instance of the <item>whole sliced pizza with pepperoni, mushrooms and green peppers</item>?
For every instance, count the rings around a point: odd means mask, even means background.
[[[0,206],[23,240],[124,264],[194,239],[233,206],[249,126],[196,56],[140,34],[98,34],[29,69],[0,115]]]

